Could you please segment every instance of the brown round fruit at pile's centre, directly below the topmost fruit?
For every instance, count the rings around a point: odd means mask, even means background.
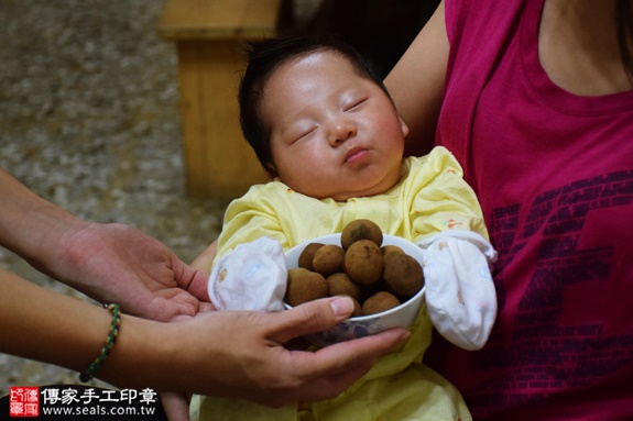
[[[371,240],[354,242],[345,254],[345,272],[357,284],[378,282],[382,278],[383,267],[380,247]]]

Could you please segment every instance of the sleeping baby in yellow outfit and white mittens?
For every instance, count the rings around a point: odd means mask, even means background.
[[[477,350],[496,313],[489,269],[495,253],[459,164],[444,147],[403,159],[408,129],[386,89],[356,51],[336,41],[251,44],[239,100],[243,134],[274,180],[253,186],[227,209],[209,280],[214,304],[281,310],[283,251],[357,219],[423,247],[426,303],[408,342],[336,399],[272,409],[195,397],[192,418],[471,419],[459,392],[423,363],[434,325],[459,346]],[[259,255],[270,269],[257,297],[236,297],[245,276],[227,278],[221,268],[248,255]]]

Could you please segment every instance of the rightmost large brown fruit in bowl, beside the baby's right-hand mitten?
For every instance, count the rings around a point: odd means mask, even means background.
[[[415,258],[393,253],[384,257],[384,281],[396,296],[410,299],[424,286],[424,273]]]

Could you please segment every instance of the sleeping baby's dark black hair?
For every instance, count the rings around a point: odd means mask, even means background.
[[[266,82],[281,65],[313,53],[334,52],[348,59],[360,77],[375,82],[389,97],[382,79],[363,57],[348,44],[335,38],[305,36],[269,38],[249,43],[247,51],[249,62],[239,90],[240,125],[260,163],[272,176],[276,176],[276,170],[270,145],[270,128],[261,119],[260,106]]]

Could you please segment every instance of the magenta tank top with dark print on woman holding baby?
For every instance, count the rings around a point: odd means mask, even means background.
[[[476,420],[633,420],[633,91],[578,97],[538,60],[543,0],[446,0],[436,143],[479,196],[500,311],[428,364]]]

